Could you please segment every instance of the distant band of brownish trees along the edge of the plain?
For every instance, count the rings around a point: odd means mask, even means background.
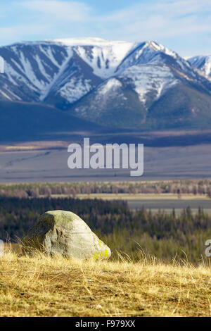
[[[0,184],[0,196],[39,198],[43,196],[77,194],[203,194],[211,198],[211,180],[171,180],[159,182],[64,182],[33,184]]]

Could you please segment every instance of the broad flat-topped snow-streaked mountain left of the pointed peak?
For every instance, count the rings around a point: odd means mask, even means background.
[[[5,74],[0,76],[0,98],[39,102],[57,97],[71,104],[113,75],[133,47],[95,38],[1,47]]]

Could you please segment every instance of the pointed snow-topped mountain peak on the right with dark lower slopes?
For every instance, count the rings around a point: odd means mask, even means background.
[[[144,42],[134,46],[113,76],[77,101],[71,112],[116,127],[183,126],[187,118],[196,120],[205,95],[211,110],[210,81],[175,52]]]

